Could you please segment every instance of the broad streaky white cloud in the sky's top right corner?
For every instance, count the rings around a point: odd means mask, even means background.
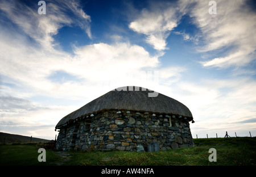
[[[216,15],[208,13],[210,6],[206,1],[179,2],[203,33],[205,43],[198,51],[226,49],[222,56],[201,62],[203,66],[244,66],[255,59],[256,14],[246,7],[246,1],[216,1]]]

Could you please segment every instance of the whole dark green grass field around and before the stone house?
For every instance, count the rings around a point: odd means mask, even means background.
[[[38,162],[38,144],[1,145],[0,165],[86,165],[86,166],[251,166],[256,165],[256,138],[199,138],[195,147],[158,152],[53,151],[46,150],[46,162]],[[217,162],[209,162],[210,148]]]

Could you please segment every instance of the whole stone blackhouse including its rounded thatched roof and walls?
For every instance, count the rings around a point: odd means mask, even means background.
[[[56,149],[193,146],[189,121],[194,122],[191,111],[175,99],[142,87],[120,87],[63,117],[55,127],[59,129]]]

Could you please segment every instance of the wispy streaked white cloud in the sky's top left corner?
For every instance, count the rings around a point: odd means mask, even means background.
[[[37,5],[37,3],[35,3]],[[57,34],[63,26],[78,24],[89,37],[90,33],[90,16],[86,15],[76,1],[51,1],[47,2],[46,15],[39,15],[37,8],[39,6],[28,7],[24,3],[16,1],[1,2],[0,9],[5,12],[7,18],[15,23],[27,36],[30,36],[41,47],[53,51],[56,47],[53,36]],[[67,15],[72,11],[75,18]],[[55,52],[57,52],[55,50]]]

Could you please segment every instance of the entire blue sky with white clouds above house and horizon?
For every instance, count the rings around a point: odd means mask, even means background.
[[[139,86],[185,104],[193,138],[256,136],[255,1],[44,2],[0,0],[0,132],[53,140]]]

